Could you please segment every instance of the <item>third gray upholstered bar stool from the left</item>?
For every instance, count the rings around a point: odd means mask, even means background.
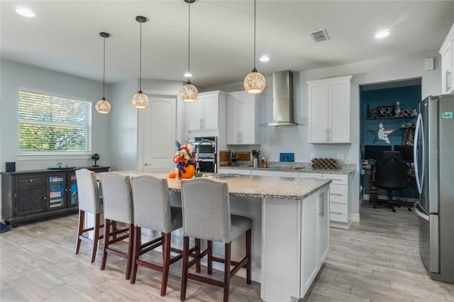
[[[162,272],[161,296],[165,296],[170,264],[182,259],[182,250],[170,247],[172,231],[182,228],[182,208],[170,206],[167,179],[148,175],[131,177],[134,205],[134,246],[131,284],[135,282],[138,265]],[[143,243],[141,228],[155,230],[160,237]],[[146,262],[140,255],[162,246],[162,265]],[[170,252],[177,252],[170,257]]]

